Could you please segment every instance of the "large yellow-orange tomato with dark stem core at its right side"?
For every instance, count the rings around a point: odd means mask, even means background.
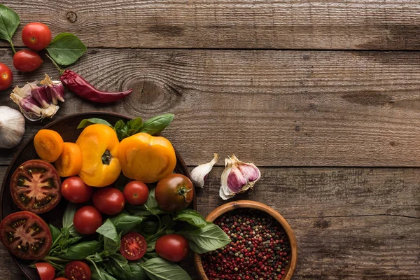
[[[82,152],[82,169],[79,176],[88,186],[104,187],[115,182],[120,175],[118,137],[107,125],[95,124],[86,127],[76,144]]]

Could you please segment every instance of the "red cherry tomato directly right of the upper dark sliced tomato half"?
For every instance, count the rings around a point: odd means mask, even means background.
[[[62,183],[62,196],[73,203],[84,203],[92,197],[93,188],[78,176],[69,177]]]

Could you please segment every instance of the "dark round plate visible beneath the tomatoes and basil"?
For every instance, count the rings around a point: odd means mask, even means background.
[[[124,116],[118,113],[108,113],[108,112],[90,112],[90,113],[76,113],[73,115],[66,116],[64,118],[60,118],[59,120],[52,121],[48,125],[45,125],[44,128],[48,130],[55,130],[57,131],[65,142],[75,142],[78,138],[80,132],[82,130],[78,130],[77,126],[81,120],[85,118],[102,118],[112,125],[115,124],[118,120],[131,120],[132,118],[128,116]],[[34,137],[31,137],[18,151],[15,155],[15,158],[10,162],[10,165],[6,171],[6,174],[3,179],[3,183],[1,185],[1,193],[0,193],[0,218],[3,219],[9,214],[14,212],[20,211],[20,209],[13,203],[12,197],[10,195],[10,177],[12,176],[15,169],[17,169],[23,162],[27,160],[33,160],[34,158],[38,158],[36,155],[36,151],[34,148]],[[186,163],[179,155],[178,151],[175,150],[176,153],[176,167],[174,172],[183,174],[190,178],[190,173],[188,172],[188,168]],[[55,207],[54,211],[48,211],[47,213],[40,214],[41,218],[44,219],[47,223],[52,223],[53,225],[61,228],[62,223],[62,216],[64,214],[64,210],[66,209],[67,202],[66,200],[62,199],[57,207]],[[196,209],[196,200],[194,197],[193,209]],[[28,279],[31,280],[38,280],[39,276],[36,273],[36,270],[30,268],[29,265],[32,263],[31,260],[22,260],[20,258],[16,258],[14,255],[10,254],[10,256],[15,260],[18,264],[18,267],[22,270],[23,274],[27,276]],[[0,277],[1,279],[1,277]]]

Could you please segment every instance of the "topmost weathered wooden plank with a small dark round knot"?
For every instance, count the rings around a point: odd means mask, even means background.
[[[17,45],[22,45],[22,28],[42,20],[53,35],[71,31],[89,47],[420,48],[416,0],[8,0],[4,4],[22,20],[14,38]]]

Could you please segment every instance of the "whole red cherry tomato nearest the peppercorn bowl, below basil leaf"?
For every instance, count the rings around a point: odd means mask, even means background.
[[[171,262],[181,262],[188,255],[188,241],[182,235],[164,235],[156,241],[155,251]]]

